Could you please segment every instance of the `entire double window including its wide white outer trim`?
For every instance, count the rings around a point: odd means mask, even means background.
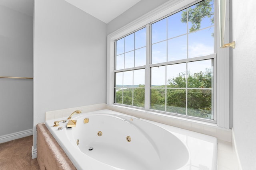
[[[229,60],[223,57],[229,53],[218,48],[216,3],[170,4],[163,7],[164,17],[149,14],[150,19],[136,23],[135,31],[134,23],[108,35],[107,104],[219,120],[227,128]]]

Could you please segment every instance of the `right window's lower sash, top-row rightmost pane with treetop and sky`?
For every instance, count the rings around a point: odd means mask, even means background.
[[[188,88],[211,88],[212,76],[212,60],[188,63]]]

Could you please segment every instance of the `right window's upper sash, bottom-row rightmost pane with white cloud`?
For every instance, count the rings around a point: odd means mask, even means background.
[[[214,53],[214,27],[188,34],[188,57],[200,57]]]

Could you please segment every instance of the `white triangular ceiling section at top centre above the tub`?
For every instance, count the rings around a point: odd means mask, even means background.
[[[108,23],[140,0],[65,0],[84,12]]]

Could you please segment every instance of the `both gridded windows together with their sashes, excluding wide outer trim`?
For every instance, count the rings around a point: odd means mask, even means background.
[[[150,101],[155,111],[214,119],[214,44],[213,0],[203,0],[117,39],[114,102],[144,108],[145,101]],[[147,90],[150,100],[145,100]]]

